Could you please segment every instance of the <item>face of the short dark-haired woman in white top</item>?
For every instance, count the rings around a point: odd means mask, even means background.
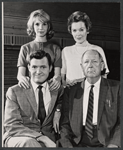
[[[82,21],[79,22],[73,22],[71,25],[71,34],[78,44],[82,44],[87,39],[87,34],[89,32],[87,31],[87,28],[85,26],[85,23]]]

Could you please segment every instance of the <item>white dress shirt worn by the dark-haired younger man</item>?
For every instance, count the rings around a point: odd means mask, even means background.
[[[34,81],[31,80],[31,84],[35,93],[35,98],[36,98],[36,102],[37,102],[37,106],[39,105],[39,98],[38,98],[38,84],[36,84]],[[41,86],[42,87],[42,92],[43,92],[43,101],[44,101],[44,107],[45,107],[45,111],[46,111],[46,115],[48,115],[48,108],[49,108],[49,104],[51,102],[51,94],[49,91],[49,85],[47,82],[43,83]],[[38,107],[37,107],[38,110]]]

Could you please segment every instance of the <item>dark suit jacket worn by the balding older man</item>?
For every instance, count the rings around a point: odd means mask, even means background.
[[[62,147],[73,147],[73,143],[77,145],[82,138],[83,93],[84,81],[64,91],[60,139]],[[119,95],[119,81],[101,79],[97,134],[99,142],[104,146],[110,143],[121,145]]]

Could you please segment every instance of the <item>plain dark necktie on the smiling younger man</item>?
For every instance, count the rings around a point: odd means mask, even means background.
[[[41,124],[43,123],[45,117],[46,117],[46,111],[44,107],[44,101],[43,101],[43,93],[42,93],[42,86],[39,86],[39,109],[38,109],[38,119],[40,119]]]

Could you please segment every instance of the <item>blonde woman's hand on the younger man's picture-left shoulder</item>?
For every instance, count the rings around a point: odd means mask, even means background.
[[[27,77],[27,76],[22,76],[22,77],[19,79],[18,84],[19,84],[20,87],[23,87],[24,89],[29,88],[29,87],[30,87],[30,84],[29,84],[29,77]]]

